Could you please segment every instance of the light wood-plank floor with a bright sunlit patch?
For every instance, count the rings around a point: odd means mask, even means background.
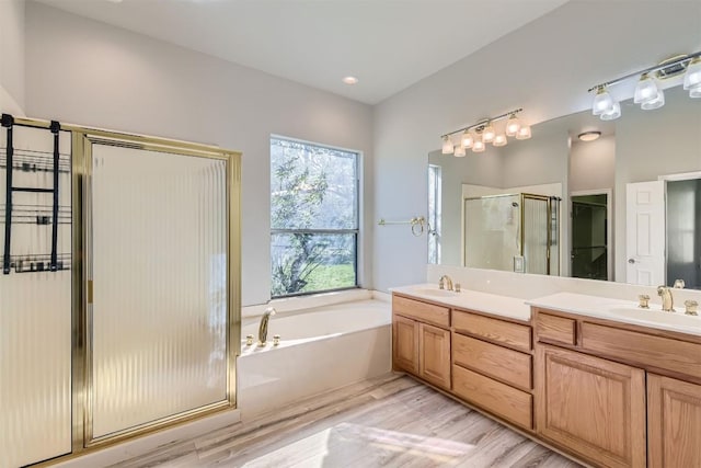
[[[115,465],[154,466],[579,467],[401,375],[315,396]]]

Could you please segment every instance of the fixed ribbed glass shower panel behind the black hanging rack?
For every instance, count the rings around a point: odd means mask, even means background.
[[[50,189],[54,136],[14,126],[12,186]],[[59,132],[58,216],[53,193],[15,191],[10,262],[0,272],[0,467],[71,452],[70,133]],[[4,247],[7,128],[0,129],[0,246]],[[54,224],[61,269],[49,272]]]

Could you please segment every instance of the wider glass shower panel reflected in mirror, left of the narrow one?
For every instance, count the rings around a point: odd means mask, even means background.
[[[520,255],[520,197],[464,199],[464,264],[475,269],[514,271]]]

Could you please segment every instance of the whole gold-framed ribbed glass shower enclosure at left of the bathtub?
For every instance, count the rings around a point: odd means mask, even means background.
[[[1,134],[0,468],[234,408],[240,155],[4,114]]]

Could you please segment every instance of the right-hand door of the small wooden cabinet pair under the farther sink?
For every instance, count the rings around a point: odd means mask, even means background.
[[[426,323],[418,324],[418,376],[450,389],[450,331]]]

